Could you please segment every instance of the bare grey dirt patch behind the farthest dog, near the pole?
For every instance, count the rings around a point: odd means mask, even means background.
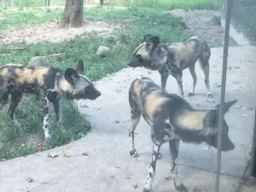
[[[214,16],[221,15],[213,10],[191,10],[184,11],[175,9],[170,11],[173,16],[182,17],[188,26],[187,32],[193,35],[199,35],[207,40],[210,46],[224,46],[224,29],[221,25],[214,24],[211,20]],[[236,42],[230,38],[230,46],[236,45]]]

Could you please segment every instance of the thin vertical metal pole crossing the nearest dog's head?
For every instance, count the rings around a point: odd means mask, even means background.
[[[215,192],[219,191],[222,126],[223,126],[223,120],[224,120],[224,99],[225,99],[225,89],[226,89],[227,61],[228,61],[229,38],[230,38],[230,15],[231,15],[232,3],[233,3],[233,0],[228,0],[226,14],[225,14],[224,54],[223,54],[221,93],[220,93],[220,103],[219,103],[220,108],[219,108],[219,117],[218,117],[218,154],[217,154],[217,173],[216,173]]]

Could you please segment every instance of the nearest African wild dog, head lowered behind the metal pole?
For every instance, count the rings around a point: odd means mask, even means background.
[[[236,102],[224,103],[224,113]],[[134,146],[134,131],[141,115],[151,126],[151,140],[153,143],[152,162],[148,170],[148,180],[143,189],[151,190],[155,174],[155,165],[160,147],[168,142],[171,154],[171,177],[175,188],[186,191],[183,183],[177,183],[177,156],[179,141],[184,143],[207,143],[218,148],[218,108],[212,110],[197,110],[189,105],[182,97],[167,93],[166,90],[154,83],[152,79],[143,77],[135,79],[129,89],[129,103],[131,106],[130,120],[130,155],[137,157]],[[223,121],[222,150],[235,148],[229,137],[229,126]]]

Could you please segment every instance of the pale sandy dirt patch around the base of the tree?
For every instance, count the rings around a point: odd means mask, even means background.
[[[119,29],[118,25],[102,21],[84,22],[80,28],[61,28],[55,22],[29,26],[13,32],[0,32],[0,42],[3,44],[26,41],[27,44],[37,42],[60,42],[62,40],[74,38],[77,35],[84,35],[86,32],[95,32],[98,35],[108,36],[114,30]]]

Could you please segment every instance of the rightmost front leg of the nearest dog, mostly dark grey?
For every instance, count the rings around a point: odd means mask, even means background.
[[[187,192],[188,189],[183,185],[183,183],[178,181],[177,176],[177,156],[178,156],[178,148],[179,148],[179,140],[173,139],[169,141],[169,148],[171,154],[171,177],[167,177],[167,179],[173,180],[175,189],[181,192]]]

